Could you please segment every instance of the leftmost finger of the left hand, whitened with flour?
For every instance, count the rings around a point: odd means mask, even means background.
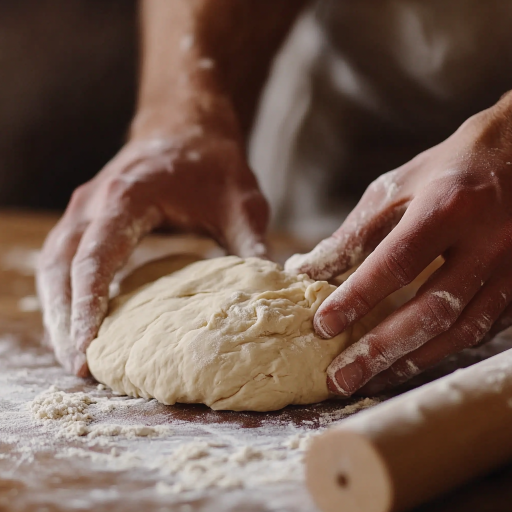
[[[86,376],[88,370],[84,355],[75,349],[70,337],[70,270],[85,226],[66,217],[59,222],[41,251],[36,276],[47,339],[60,364],[78,376]]]

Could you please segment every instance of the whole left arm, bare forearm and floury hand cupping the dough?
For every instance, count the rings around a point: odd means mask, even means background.
[[[230,253],[265,253],[268,208],[244,141],[273,53],[299,0],[145,0],[129,141],[79,187],[42,250],[37,285],[59,361],[85,352],[109,284],[158,226],[205,233]]]

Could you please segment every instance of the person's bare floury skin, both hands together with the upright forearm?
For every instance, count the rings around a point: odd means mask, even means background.
[[[177,227],[206,233],[231,253],[265,253],[267,205],[245,140],[270,60],[302,5],[143,2],[129,140],[77,189],[40,260],[48,338],[68,370],[87,375],[84,353],[109,283],[148,231]],[[510,94],[376,180],[332,237],[287,268],[325,280],[363,262],[315,316],[316,331],[329,338],[438,255],[444,265],[413,300],[333,361],[333,392],[374,393],[512,324]]]

